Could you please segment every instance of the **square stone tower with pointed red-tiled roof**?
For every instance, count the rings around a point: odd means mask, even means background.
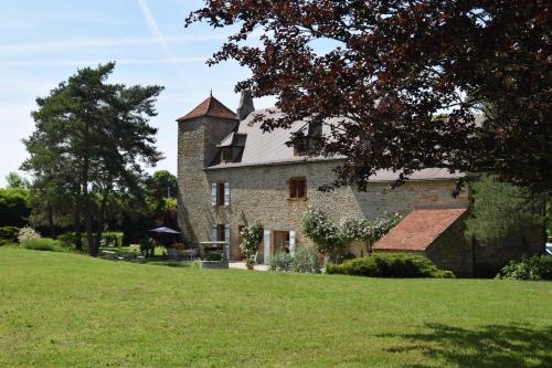
[[[236,128],[240,119],[211,93],[177,122],[179,223],[187,242],[197,244],[211,236],[211,193],[204,168],[213,161],[216,145]]]

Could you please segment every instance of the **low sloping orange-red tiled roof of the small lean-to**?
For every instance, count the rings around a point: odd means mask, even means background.
[[[467,209],[417,209],[408,213],[373,250],[425,251]]]

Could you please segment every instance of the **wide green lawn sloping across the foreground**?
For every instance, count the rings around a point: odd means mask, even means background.
[[[552,283],[173,269],[0,248],[0,367],[552,367]]]

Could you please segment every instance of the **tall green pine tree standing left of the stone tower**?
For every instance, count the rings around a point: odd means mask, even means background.
[[[107,63],[78,70],[36,98],[36,129],[24,140],[31,157],[22,168],[50,188],[56,182],[72,193],[76,238],[84,217],[91,255],[98,253],[109,196],[135,190],[141,164],[153,166],[162,158],[155,147],[157,129],[148,124],[162,87],[107,84],[114,69]]]

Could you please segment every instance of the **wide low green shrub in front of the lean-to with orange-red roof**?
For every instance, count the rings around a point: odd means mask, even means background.
[[[339,265],[328,265],[326,272],[367,277],[454,277],[450,271],[437,269],[425,256],[394,253],[374,254]]]

